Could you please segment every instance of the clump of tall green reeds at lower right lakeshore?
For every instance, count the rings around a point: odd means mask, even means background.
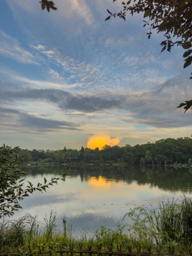
[[[152,205],[151,205],[152,206]],[[156,207],[136,207],[125,214],[133,224],[127,224],[133,241],[155,243],[157,246],[192,245],[192,200],[159,202]]]

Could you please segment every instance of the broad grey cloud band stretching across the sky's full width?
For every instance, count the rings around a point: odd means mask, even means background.
[[[94,113],[95,118],[108,115],[116,118],[118,122],[121,120],[163,128],[191,125],[191,112],[184,114],[182,109],[177,108],[180,102],[192,97],[190,81],[184,77],[173,77],[151,90],[117,90],[115,93],[111,90],[100,90],[95,93],[87,90],[77,93],[65,91],[63,88],[33,89],[29,86],[20,88],[17,84],[13,85],[1,82],[0,99],[4,104],[12,102],[17,105],[18,102],[24,101],[47,102],[65,113]]]

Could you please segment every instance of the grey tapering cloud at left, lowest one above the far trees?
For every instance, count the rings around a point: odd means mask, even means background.
[[[51,120],[48,118],[42,118],[35,115],[29,115],[17,109],[12,108],[0,108],[1,127],[15,127],[16,129],[22,129],[29,133],[33,132],[51,132],[59,130],[76,130],[81,131],[79,124],[67,121]],[[12,120],[12,122],[10,122]],[[77,128],[78,127],[78,128]]]

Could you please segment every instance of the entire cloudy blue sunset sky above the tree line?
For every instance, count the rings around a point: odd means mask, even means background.
[[[141,14],[110,19],[121,1],[0,1],[0,144],[80,149],[191,136],[191,67],[182,47],[161,53]],[[94,144],[94,143],[93,143]],[[95,144],[94,144],[95,145]],[[96,146],[95,146],[96,147]]]

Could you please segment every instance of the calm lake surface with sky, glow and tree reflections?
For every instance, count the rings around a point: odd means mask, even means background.
[[[156,205],[166,198],[191,196],[192,171],[173,168],[140,168],[104,166],[102,168],[67,169],[63,166],[27,168],[26,180],[33,184],[43,182],[44,177],[58,177],[68,173],[66,181],[60,181],[46,193],[36,192],[22,202],[23,209],[15,214],[19,218],[26,213],[38,216],[42,223],[45,214],[54,210],[58,216],[58,229],[62,218],[72,225],[76,236],[86,232],[92,236],[100,225],[116,227],[124,214],[132,207]]]

